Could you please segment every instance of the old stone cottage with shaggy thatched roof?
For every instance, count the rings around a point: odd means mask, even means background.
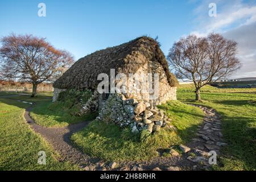
[[[142,93],[139,89],[133,93],[99,94],[97,86],[101,80],[98,80],[98,75],[106,73],[110,77],[111,69],[114,69],[115,75],[158,73],[158,97],[152,100],[150,92]],[[145,84],[142,77],[139,77],[138,81],[141,85]],[[159,130],[159,127],[154,126],[157,122],[160,121],[160,127],[165,125],[164,118],[167,122],[167,117],[157,111],[156,105],[176,100],[176,85],[177,80],[170,73],[166,57],[158,43],[143,36],[119,46],[96,51],[78,60],[54,82],[53,101],[66,89],[89,89],[93,91],[93,96],[84,104],[84,111],[88,111],[91,105],[97,105],[93,108],[99,108],[98,119],[102,121],[118,123],[120,126],[130,125],[134,131],[145,128],[152,132]]]

